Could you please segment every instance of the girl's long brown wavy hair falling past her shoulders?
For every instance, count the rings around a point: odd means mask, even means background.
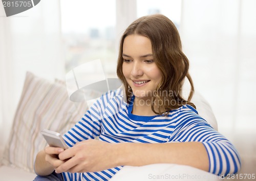
[[[155,114],[167,115],[170,110],[177,109],[184,104],[196,108],[196,106],[190,102],[194,93],[194,85],[188,74],[189,61],[182,52],[179,32],[174,23],[161,14],[138,18],[124,31],[121,37],[117,62],[117,76],[124,84],[127,102],[129,102],[129,98],[133,96],[133,93],[123,75],[122,52],[125,37],[132,34],[142,35],[151,40],[154,62],[162,73],[162,80],[157,87],[157,94],[154,95],[152,102],[152,110]],[[186,77],[191,85],[187,100],[181,95],[182,86]],[[172,94],[161,94],[164,92]],[[158,110],[155,110],[154,102],[159,101],[163,101],[164,104],[157,105]]]

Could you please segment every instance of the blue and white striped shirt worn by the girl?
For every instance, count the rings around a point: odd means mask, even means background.
[[[209,157],[209,172],[226,175],[240,169],[240,157],[234,146],[193,107],[183,105],[171,110],[168,116],[136,116],[131,114],[131,110],[132,105],[124,101],[122,89],[105,94],[64,135],[64,139],[70,147],[97,136],[109,143],[202,142]],[[65,180],[109,180],[121,168],[65,172],[62,175]]]

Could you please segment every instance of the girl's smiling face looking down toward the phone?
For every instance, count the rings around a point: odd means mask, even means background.
[[[150,99],[162,74],[153,59],[151,40],[133,34],[123,41],[123,75],[137,99]]]

